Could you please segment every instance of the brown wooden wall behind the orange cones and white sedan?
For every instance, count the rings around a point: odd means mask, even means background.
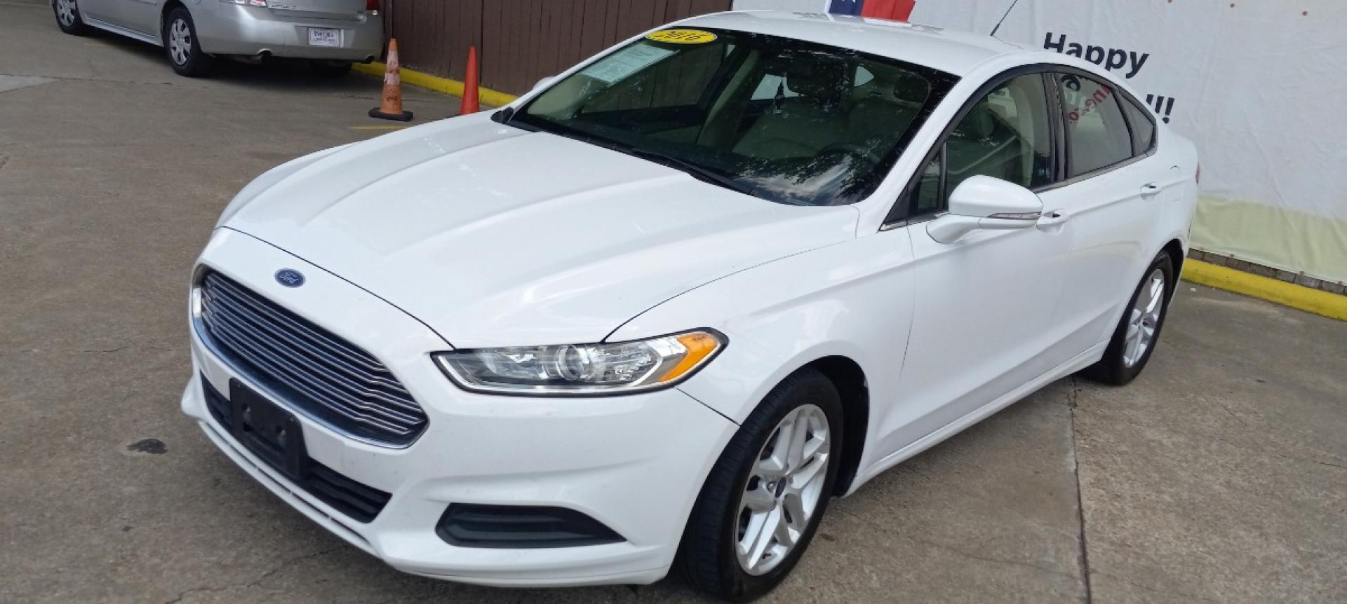
[[[730,3],[384,0],[404,67],[462,79],[467,47],[477,46],[482,86],[512,94],[633,34],[692,15],[729,11]]]

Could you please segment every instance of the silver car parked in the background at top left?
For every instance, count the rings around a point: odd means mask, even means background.
[[[341,75],[384,44],[379,0],[51,0],[66,34],[90,28],[164,47],[180,75],[205,75],[217,56],[310,59]]]

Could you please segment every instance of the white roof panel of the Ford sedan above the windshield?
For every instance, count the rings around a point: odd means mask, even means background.
[[[993,56],[1026,51],[1022,46],[989,35],[888,19],[820,12],[717,12],[679,22],[679,26],[714,27],[795,38],[892,56],[960,77]]]

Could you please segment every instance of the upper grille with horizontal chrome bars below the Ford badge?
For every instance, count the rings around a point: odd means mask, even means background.
[[[220,273],[201,281],[201,335],[287,406],[348,436],[404,447],[426,412],[373,355]]]

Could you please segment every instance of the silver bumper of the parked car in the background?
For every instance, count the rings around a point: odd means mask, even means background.
[[[207,0],[194,20],[201,50],[213,55],[269,54],[300,59],[373,61],[383,52],[383,17],[360,20],[302,19],[277,16],[263,7],[245,7]],[[338,30],[341,46],[308,46],[308,28]]]

